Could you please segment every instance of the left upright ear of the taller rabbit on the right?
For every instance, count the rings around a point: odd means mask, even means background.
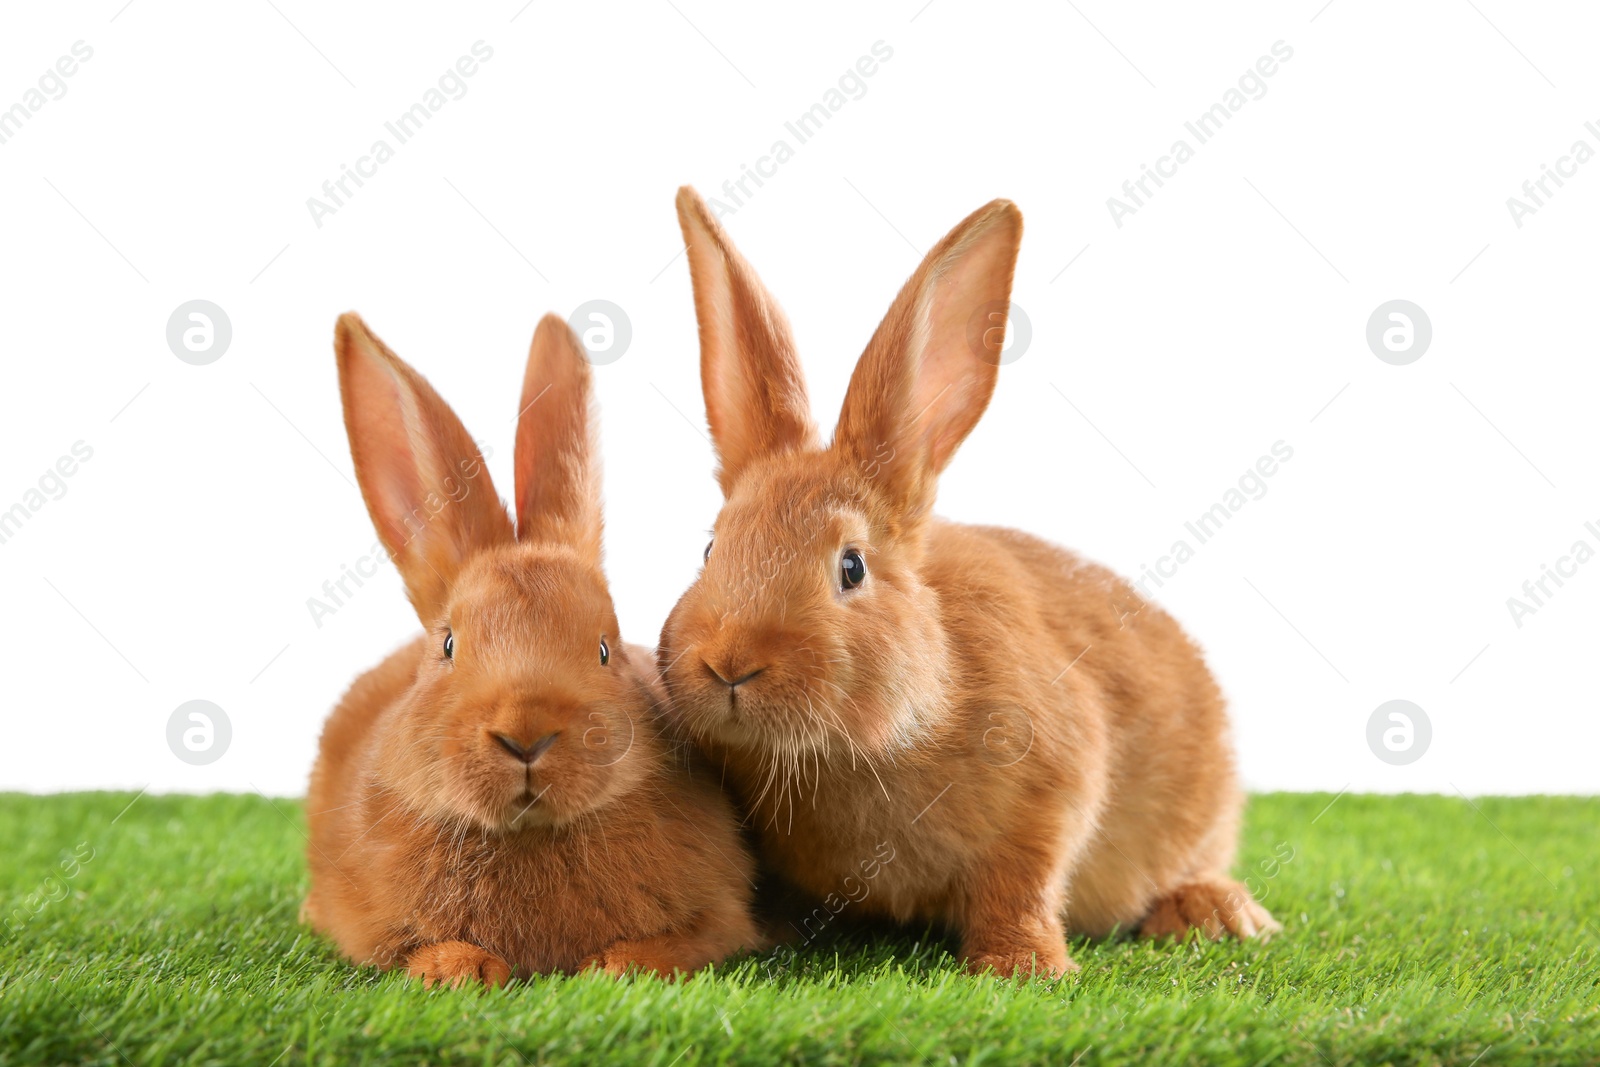
[[[752,459],[819,440],[784,314],[688,186],[678,189],[678,224],[701,330],[706,419],[728,494]]]

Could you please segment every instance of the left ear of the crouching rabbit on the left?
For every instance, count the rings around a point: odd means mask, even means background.
[[[435,625],[474,552],[512,541],[510,518],[461,419],[355,314],[334,334],[355,478],[422,625]]]

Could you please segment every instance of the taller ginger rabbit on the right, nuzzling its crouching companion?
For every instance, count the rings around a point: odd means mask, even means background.
[[[723,506],[666,621],[669,713],[760,856],[971,973],[1061,976],[1066,933],[1278,923],[1229,875],[1243,795],[1195,645],[1110,571],[931,514],[989,403],[1022,235],[995,200],[923,259],[822,445],[787,322],[678,190]],[[794,925],[794,923],[792,923]]]

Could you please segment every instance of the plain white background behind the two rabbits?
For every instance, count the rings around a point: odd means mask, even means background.
[[[1506,206],[1573,141],[1600,149],[1582,5],[123,3],[0,16],[0,107],[94,50],[0,144],[0,509],[94,450],[0,544],[0,789],[304,789],[342,688],[416,627],[387,566],[320,629],[307,611],[373,542],[330,344],[347,309],[494,446],[502,493],[538,317],[627,310],[632,347],[597,373],[608,571],[624,637],[653,643],[720,499],[672,195],[715,195],[779,138],[794,158],[725,224],[824,426],[922,251],[994,197],[1024,211],[1032,342],[946,515],[1136,574],[1293,446],[1157,592],[1232,699],[1253,789],[1600,787],[1600,561],[1520,629],[1506,605],[1600,549],[1600,162],[1520,229]],[[318,229],[307,197],[477,40],[466,96]],[[866,94],[797,144],[784,122],[880,40]],[[1184,122],[1278,40],[1266,96],[1118,229],[1107,197],[1195,146]],[[197,298],[234,328],[210,366],[165,339]],[[1410,366],[1365,342],[1395,298],[1432,318]],[[195,697],[234,726],[203,768],[165,739]],[[1366,745],[1394,697],[1434,728],[1408,766]]]

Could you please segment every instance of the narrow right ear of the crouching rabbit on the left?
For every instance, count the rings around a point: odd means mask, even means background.
[[[566,322],[539,320],[517,410],[517,539],[550,541],[600,566],[600,453],[590,370]]]

